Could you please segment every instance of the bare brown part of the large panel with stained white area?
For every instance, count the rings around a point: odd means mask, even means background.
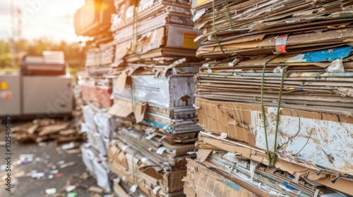
[[[198,113],[198,120],[203,129],[215,134],[225,133],[229,138],[245,141],[251,146],[254,145],[255,139],[250,131],[250,112],[261,111],[261,106],[196,98],[196,111]],[[268,113],[268,107],[265,107],[265,113]],[[282,108],[281,115],[306,117],[313,120],[353,123],[353,117],[289,108]]]

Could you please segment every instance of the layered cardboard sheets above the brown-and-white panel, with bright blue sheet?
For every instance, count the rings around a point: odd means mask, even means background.
[[[193,3],[193,20],[203,30],[205,45],[197,55],[210,62],[196,79],[197,94],[247,103],[263,97],[273,105],[286,66],[285,106],[353,115],[352,2],[199,3]],[[262,82],[263,94],[258,91]]]

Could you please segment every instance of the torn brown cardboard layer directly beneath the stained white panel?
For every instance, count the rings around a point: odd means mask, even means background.
[[[251,147],[249,144],[241,143],[239,141],[232,141],[229,139],[217,139],[217,136],[213,136],[213,134],[207,134],[205,132],[201,132],[199,141],[202,146],[213,148],[213,150],[229,151],[230,153],[235,153],[235,155],[240,159],[250,159],[257,163],[263,163],[266,167],[270,165],[266,152],[262,149]],[[208,152],[208,154],[209,153],[210,152]],[[208,154],[204,154],[203,157],[201,157],[203,159],[200,159],[205,160]],[[303,161],[297,160],[295,157],[281,157],[279,155],[277,157],[275,167],[292,175],[290,178],[294,180],[294,183],[299,181],[299,178],[301,177],[305,180],[305,184],[310,184],[312,186],[323,185],[352,195],[352,190],[350,189],[352,180],[349,176],[342,176],[340,173],[335,171],[317,167],[310,161],[304,161],[303,163]],[[220,168],[217,168],[217,170],[220,170]],[[325,191],[325,188],[323,188],[323,191]]]

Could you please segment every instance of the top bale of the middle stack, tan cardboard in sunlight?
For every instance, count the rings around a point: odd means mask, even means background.
[[[200,32],[193,30],[189,1],[115,0],[112,31],[115,66],[121,63],[169,65],[195,59]]]

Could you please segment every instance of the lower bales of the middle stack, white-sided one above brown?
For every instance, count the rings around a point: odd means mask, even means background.
[[[108,158],[120,196],[184,196],[186,158],[195,158],[200,130],[193,108],[198,68],[163,70],[159,77],[147,68],[132,75],[121,72],[113,80],[115,101],[108,113],[119,117],[122,126],[109,145]]]

